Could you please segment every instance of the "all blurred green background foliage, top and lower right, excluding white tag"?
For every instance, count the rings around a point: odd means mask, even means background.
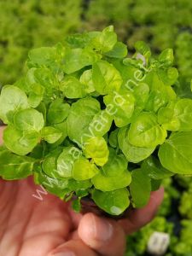
[[[158,54],[173,48],[181,96],[192,78],[192,1],[190,0],[0,0],[0,85],[22,74],[29,49],[62,42],[69,33],[113,25],[130,53],[137,40]],[[166,195],[151,224],[127,238],[126,256],[148,255],[154,231],[171,235],[166,256],[192,256],[192,177],[164,182]],[[168,220],[168,222],[167,222]]]

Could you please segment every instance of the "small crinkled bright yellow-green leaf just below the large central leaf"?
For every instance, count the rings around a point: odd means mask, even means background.
[[[92,137],[84,144],[86,158],[91,158],[97,166],[104,166],[108,161],[108,145],[103,137]]]

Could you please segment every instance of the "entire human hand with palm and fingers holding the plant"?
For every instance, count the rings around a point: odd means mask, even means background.
[[[125,234],[154,217],[164,194],[162,188],[153,192],[147,207],[115,221],[75,213],[54,195],[42,195],[40,201],[32,196],[36,189],[32,177],[0,179],[0,256],[122,256]]]

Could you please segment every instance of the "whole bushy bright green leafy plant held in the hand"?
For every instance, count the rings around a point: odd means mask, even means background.
[[[111,215],[144,207],[163,178],[192,174],[192,100],[174,91],[172,49],[136,53],[113,26],[32,49],[26,75],[3,87],[0,175],[34,175],[61,199],[89,196]]]

